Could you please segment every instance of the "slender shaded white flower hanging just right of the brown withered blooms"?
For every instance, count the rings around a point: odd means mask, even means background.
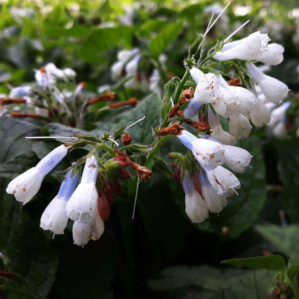
[[[222,129],[222,126],[219,123],[218,114],[214,115],[210,107],[208,108],[208,120],[212,131],[211,136],[213,138],[219,140],[223,144],[234,145],[237,143],[237,139],[234,136]]]

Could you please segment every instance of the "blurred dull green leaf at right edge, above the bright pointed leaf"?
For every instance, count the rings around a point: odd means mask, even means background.
[[[279,251],[299,261],[299,225],[258,225],[257,231]]]

